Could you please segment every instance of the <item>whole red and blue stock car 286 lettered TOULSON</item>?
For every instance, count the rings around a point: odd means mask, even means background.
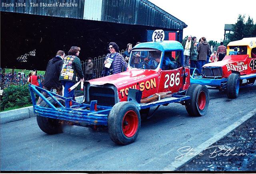
[[[173,58],[176,56],[178,61]],[[107,126],[112,141],[127,145],[135,141],[141,119],[147,118],[153,106],[158,109],[176,102],[185,105],[189,115],[205,115],[208,89],[190,85],[190,70],[180,65],[183,47],[178,41],[147,42],[132,49],[125,72],[86,81],[82,104],[30,85],[38,125],[48,134],[60,133],[64,124]],[[44,98],[40,91],[50,98]],[[33,92],[44,100],[40,106]]]

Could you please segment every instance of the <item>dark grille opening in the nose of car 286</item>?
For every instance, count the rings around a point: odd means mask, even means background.
[[[98,105],[114,106],[115,93],[111,88],[90,86],[89,88],[90,101],[97,100]]]

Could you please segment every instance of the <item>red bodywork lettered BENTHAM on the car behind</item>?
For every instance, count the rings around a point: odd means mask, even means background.
[[[240,75],[256,73],[256,69],[250,67],[251,61],[249,55],[228,55],[222,61],[208,63],[206,66],[222,67],[222,78],[228,78],[232,71],[239,72]]]

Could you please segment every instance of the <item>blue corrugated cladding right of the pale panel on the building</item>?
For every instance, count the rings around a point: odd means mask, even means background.
[[[148,0],[102,0],[102,21],[183,29],[186,23]]]

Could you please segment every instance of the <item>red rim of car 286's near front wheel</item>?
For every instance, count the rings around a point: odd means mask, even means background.
[[[135,135],[138,129],[138,122],[138,115],[135,111],[130,110],[124,114],[122,129],[126,137],[132,137]]]

